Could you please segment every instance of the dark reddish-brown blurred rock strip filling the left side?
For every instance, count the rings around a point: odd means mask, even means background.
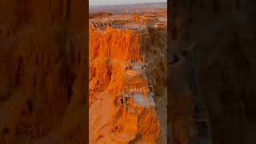
[[[86,142],[85,6],[1,2],[0,143]]]

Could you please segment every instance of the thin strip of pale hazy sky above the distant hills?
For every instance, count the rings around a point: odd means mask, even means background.
[[[167,0],[89,0],[90,6],[120,5],[126,3],[167,2]]]

